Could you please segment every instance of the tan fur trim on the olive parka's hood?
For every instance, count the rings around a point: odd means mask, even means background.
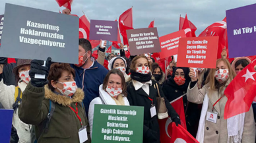
[[[55,94],[48,88],[48,85],[44,87],[44,90],[45,90],[44,97],[46,99],[49,99],[55,103],[58,103],[60,105],[67,106],[67,107],[69,107],[71,103],[80,103],[84,99],[84,92],[80,88],[77,88],[77,91],[75,92],[73,98],[71,99],[67,98],[66,96]]]

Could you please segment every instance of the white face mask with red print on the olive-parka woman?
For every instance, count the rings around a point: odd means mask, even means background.
[[[62,90],[60,90],[59,88],[57,88],[57,89],[64,96],[71,97],[77,91],[77,84],[76,84],[75,81],[73,81],[73,82],[59,82],[59,83],[63,84],[63,89]]]

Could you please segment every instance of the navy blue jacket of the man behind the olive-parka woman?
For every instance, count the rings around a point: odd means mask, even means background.
[[[99,86],[103,83],[106,74],[108,74],[108,70],[96,60],[94,60],[94,65],[85,71],[82,67],[75,65],[71,65],[71,67],[75,69],[75,81],[77,82],[77,87],[81,89],[82,76],[84,74],[84,100],[82,102],[84,103],[86,115],[88,115],[90,101],[100,96]]]

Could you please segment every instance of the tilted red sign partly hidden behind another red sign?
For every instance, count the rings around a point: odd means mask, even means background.
[[[161,52],[160,57],[164,59],[171,55],[177,55],[177,49],[179,47],[179,38],[185,38],[186,34],[184,30],[174,32],[159,38]]]

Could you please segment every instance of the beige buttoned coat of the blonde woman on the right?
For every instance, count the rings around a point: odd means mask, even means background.
[[[230,82],[224,87],[224,90],[228,86]],[[187,100],[193,103],[201,104],[205,98],[205,94],[208,95],[209,104],[207,111],[212,110],[212,105],[224,94],[224,90],[221,93],[218,93],[217,90],[212,92],[211,94],[208,93],[208,86],[205,85],[201,90],[198,89],[197,84],[193,88],[187,89]],[[224,108],[228,98],[223,96],[223,98],[214,105],[214,112],[218,112],[217,123],[212,123],[210,121],[205,121],[205,138],[204,142],[219,142],[219,143],[226,143],[228,142],[228,129],[227,129],[227,120],[224,119]],[[242,141],[246,143],[254,143],[255,142],[255,123],[253,118],[253,109],[252,107],[250,110],[245,113],[245,123],[242,135]]]

